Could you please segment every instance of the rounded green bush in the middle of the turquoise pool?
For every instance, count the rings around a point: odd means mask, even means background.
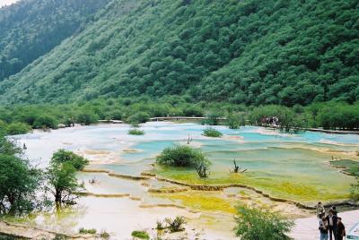
[[[162,153],[157,156],[156,162],[173,167],[196,167],[202,162],[209,163],[201,150],[177,144],[162,150]]]

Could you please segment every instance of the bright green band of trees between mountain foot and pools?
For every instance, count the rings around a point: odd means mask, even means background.
[[[187,97],[165,97],[151,100],[93,99],[74,104],[37,104],[0,107],[0,135],[31,132],[32,129],[56,129],[74,124],[97,124],[99,120],[122,120],[137,126],[155,116],[204,116],[202,124],[226,124],[236,129],[241,125],[264,125],[263,119],[276,116],[285,132],[323,127],[332,130],[359,129],[359,102],[313,103],[294,105],[245,106],[223,102],[193,102]],[[225,117],[226,120],[220,120]]]

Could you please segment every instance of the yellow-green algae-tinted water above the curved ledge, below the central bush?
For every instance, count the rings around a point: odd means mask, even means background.
[[[341,177],[337,178],[337,184],[334,179],[334,184],[328,185],[324,177],[322,177],[323,181],[319,181],[320,176],[318,178],[307,176],[304,179],[297,176],[270,175],[266,172],[231,174],[229,171],[216,172],[214,168],[211,167],[211,175],[206,179],[198,177],[197,173],[190,168],[157,167],[156,173],[159,176],[188,184],[245,184],[273,197],[303,202],[314,202],[319,199],[322,201],[345,200],[349,197],[350,184],[354,181],[337,172],[337,177]],[[343,185],[343,183],[347,184]]]

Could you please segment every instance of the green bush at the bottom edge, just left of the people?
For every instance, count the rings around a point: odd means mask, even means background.
[[[238,208],[239,217],[235,235],[242,240],[277,240],[289,239],[285,236],[293,227],[293,221],[269,210],[258,208]]]

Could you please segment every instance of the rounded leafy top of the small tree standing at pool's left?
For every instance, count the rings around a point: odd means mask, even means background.
[[[84,159],[82,156],[70,150],[57,150],[52,155],[51,161],[56,163],[69,163],[74,166],[76,170],[83,170],[83,167],[89,164],[89,160]]]

